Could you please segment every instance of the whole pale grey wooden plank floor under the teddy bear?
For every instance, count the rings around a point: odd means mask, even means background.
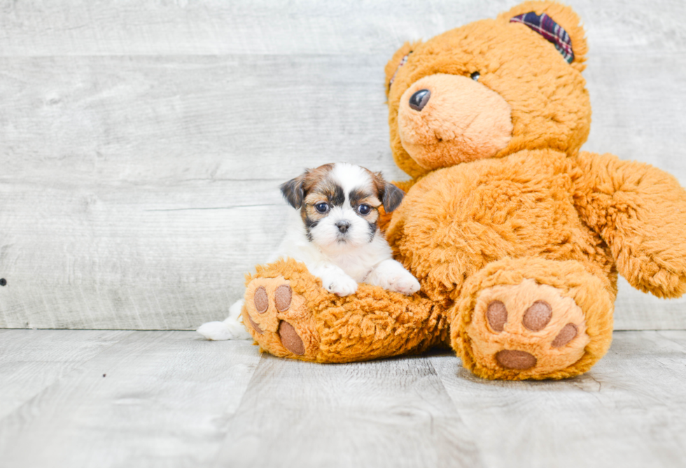
[[[190,331],[0,330],[0,466],[682,467],[686,331],[589,373],[489,382],[450,353],[343,365]]]

